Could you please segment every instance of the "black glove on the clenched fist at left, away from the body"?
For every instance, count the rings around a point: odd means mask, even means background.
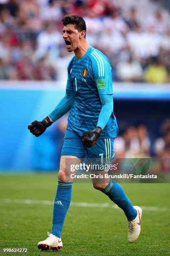
[[[41,122],[32,122],[30,125],[28,125],[28,130],[30,130],[30,133],[32,133],[36,137],[39,137],[42,133],[45,132],[47,127],[49,127],[50,125],[52,125],[52,122],[50,118],[47,116]]]

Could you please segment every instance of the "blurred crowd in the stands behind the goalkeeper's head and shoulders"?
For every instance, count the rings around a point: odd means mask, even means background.
[[[62,39],[61,18],[80,15],[87,41],[112,66],[113,81],[170,81],[170,25],[158,9],[141,22],[114,0],[1,0],[0,79],[65,81],[71,57]],[[146,7],[147,8],[147,7]]]

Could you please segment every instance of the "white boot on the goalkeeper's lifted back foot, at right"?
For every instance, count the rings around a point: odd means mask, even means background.
[[[142,209],[134,206],[137,210],[137,216],[134,220],[128,221],[128,242],[133,243],[140,235],[140,220],[142,218]]]

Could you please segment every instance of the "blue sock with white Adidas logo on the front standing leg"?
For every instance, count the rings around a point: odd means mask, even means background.
[[[62,182],[58,180],[57,194],[54,200],[51,233],[59,238],[61,237],[61,231],[64,224],[65,215],[70,206],[71,192],[72,182]]]

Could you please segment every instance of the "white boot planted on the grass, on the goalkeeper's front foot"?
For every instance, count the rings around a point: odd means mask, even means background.
[[[47,250],[53,250],[53,251],[59,251],[62,249],[62,241],[61,238],[58,238],[57,236],[54,236],[47,232],[47,239],[44,241],[40,241],[37,246],[38,249],[41,251],[47,251]]]

